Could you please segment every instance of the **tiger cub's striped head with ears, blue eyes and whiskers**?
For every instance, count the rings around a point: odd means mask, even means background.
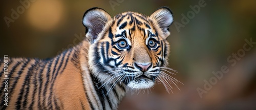
[[[168,81],[176,80],[163,72],[168,71],[168,27],[173,23],[169,8],[162,7],[151,16],[124,12],[114,18],[92,8],[84,13],[82,23],[90,42],[90,70],[103,84],[147,89],[156,81],[168,86]]]

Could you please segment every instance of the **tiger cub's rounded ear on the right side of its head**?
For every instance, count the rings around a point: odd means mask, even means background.
[[[173,23],[173,12],[168,7],[161,7],[150,16],[156,20],[157,24],[163,31],[163,37],[167,38],[170,35],[169,26]]]

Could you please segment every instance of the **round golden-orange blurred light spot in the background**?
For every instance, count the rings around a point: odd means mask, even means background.
[[[28,23],[39,30],[52,30],[63,17],[64,5],[60,0],[36,1],[28,8]]]

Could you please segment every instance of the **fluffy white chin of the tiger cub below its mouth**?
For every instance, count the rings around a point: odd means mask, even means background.
[[[148,78],[137,78],[129,83],[127,83],[127,87],[130,89],[148,89],[153,87],[155,82]]]

